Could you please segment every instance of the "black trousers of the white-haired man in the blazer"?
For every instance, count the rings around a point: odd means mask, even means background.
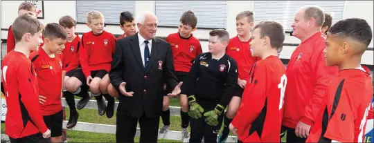
[[[130,117],[127,111],[117,111],[116,142],[134,142],[136,126],[140,125],[139,142],[157,142],[160,117]]]

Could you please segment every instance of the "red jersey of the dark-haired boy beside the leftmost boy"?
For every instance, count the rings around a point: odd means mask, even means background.
[[[43,115],[53,115],[62,110],[62,70],[64,70],[63,55],[55,54],[49,57],[43,48],[30,54],[30,60],[35,66],[39,95],[46,97],[46,102],[40,104]]]

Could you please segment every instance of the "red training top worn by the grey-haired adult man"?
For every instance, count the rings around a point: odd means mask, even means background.
[[[299,121],[310,126],[314,124],[327,84],[338,72],[337,66],[326,66],[325,39],[322,32],[317,32],[292,53],[286,68],[284,126],[296,128]]]

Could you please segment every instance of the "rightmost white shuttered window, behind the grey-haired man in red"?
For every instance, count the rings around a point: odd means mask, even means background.
[[[265,20],[276,20],[283,24],[285,31],[291,31],[291,25],[297,10],[303,6],[319,6],[325,12],[332,13],[332,24],[343,17],[345,1],[254,1],[255,24]]]

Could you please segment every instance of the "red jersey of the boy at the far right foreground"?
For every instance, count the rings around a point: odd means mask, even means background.
[[[328,85],[307,142],[363,142],[372,96],[373,83],[367,71],[341,70]]]

